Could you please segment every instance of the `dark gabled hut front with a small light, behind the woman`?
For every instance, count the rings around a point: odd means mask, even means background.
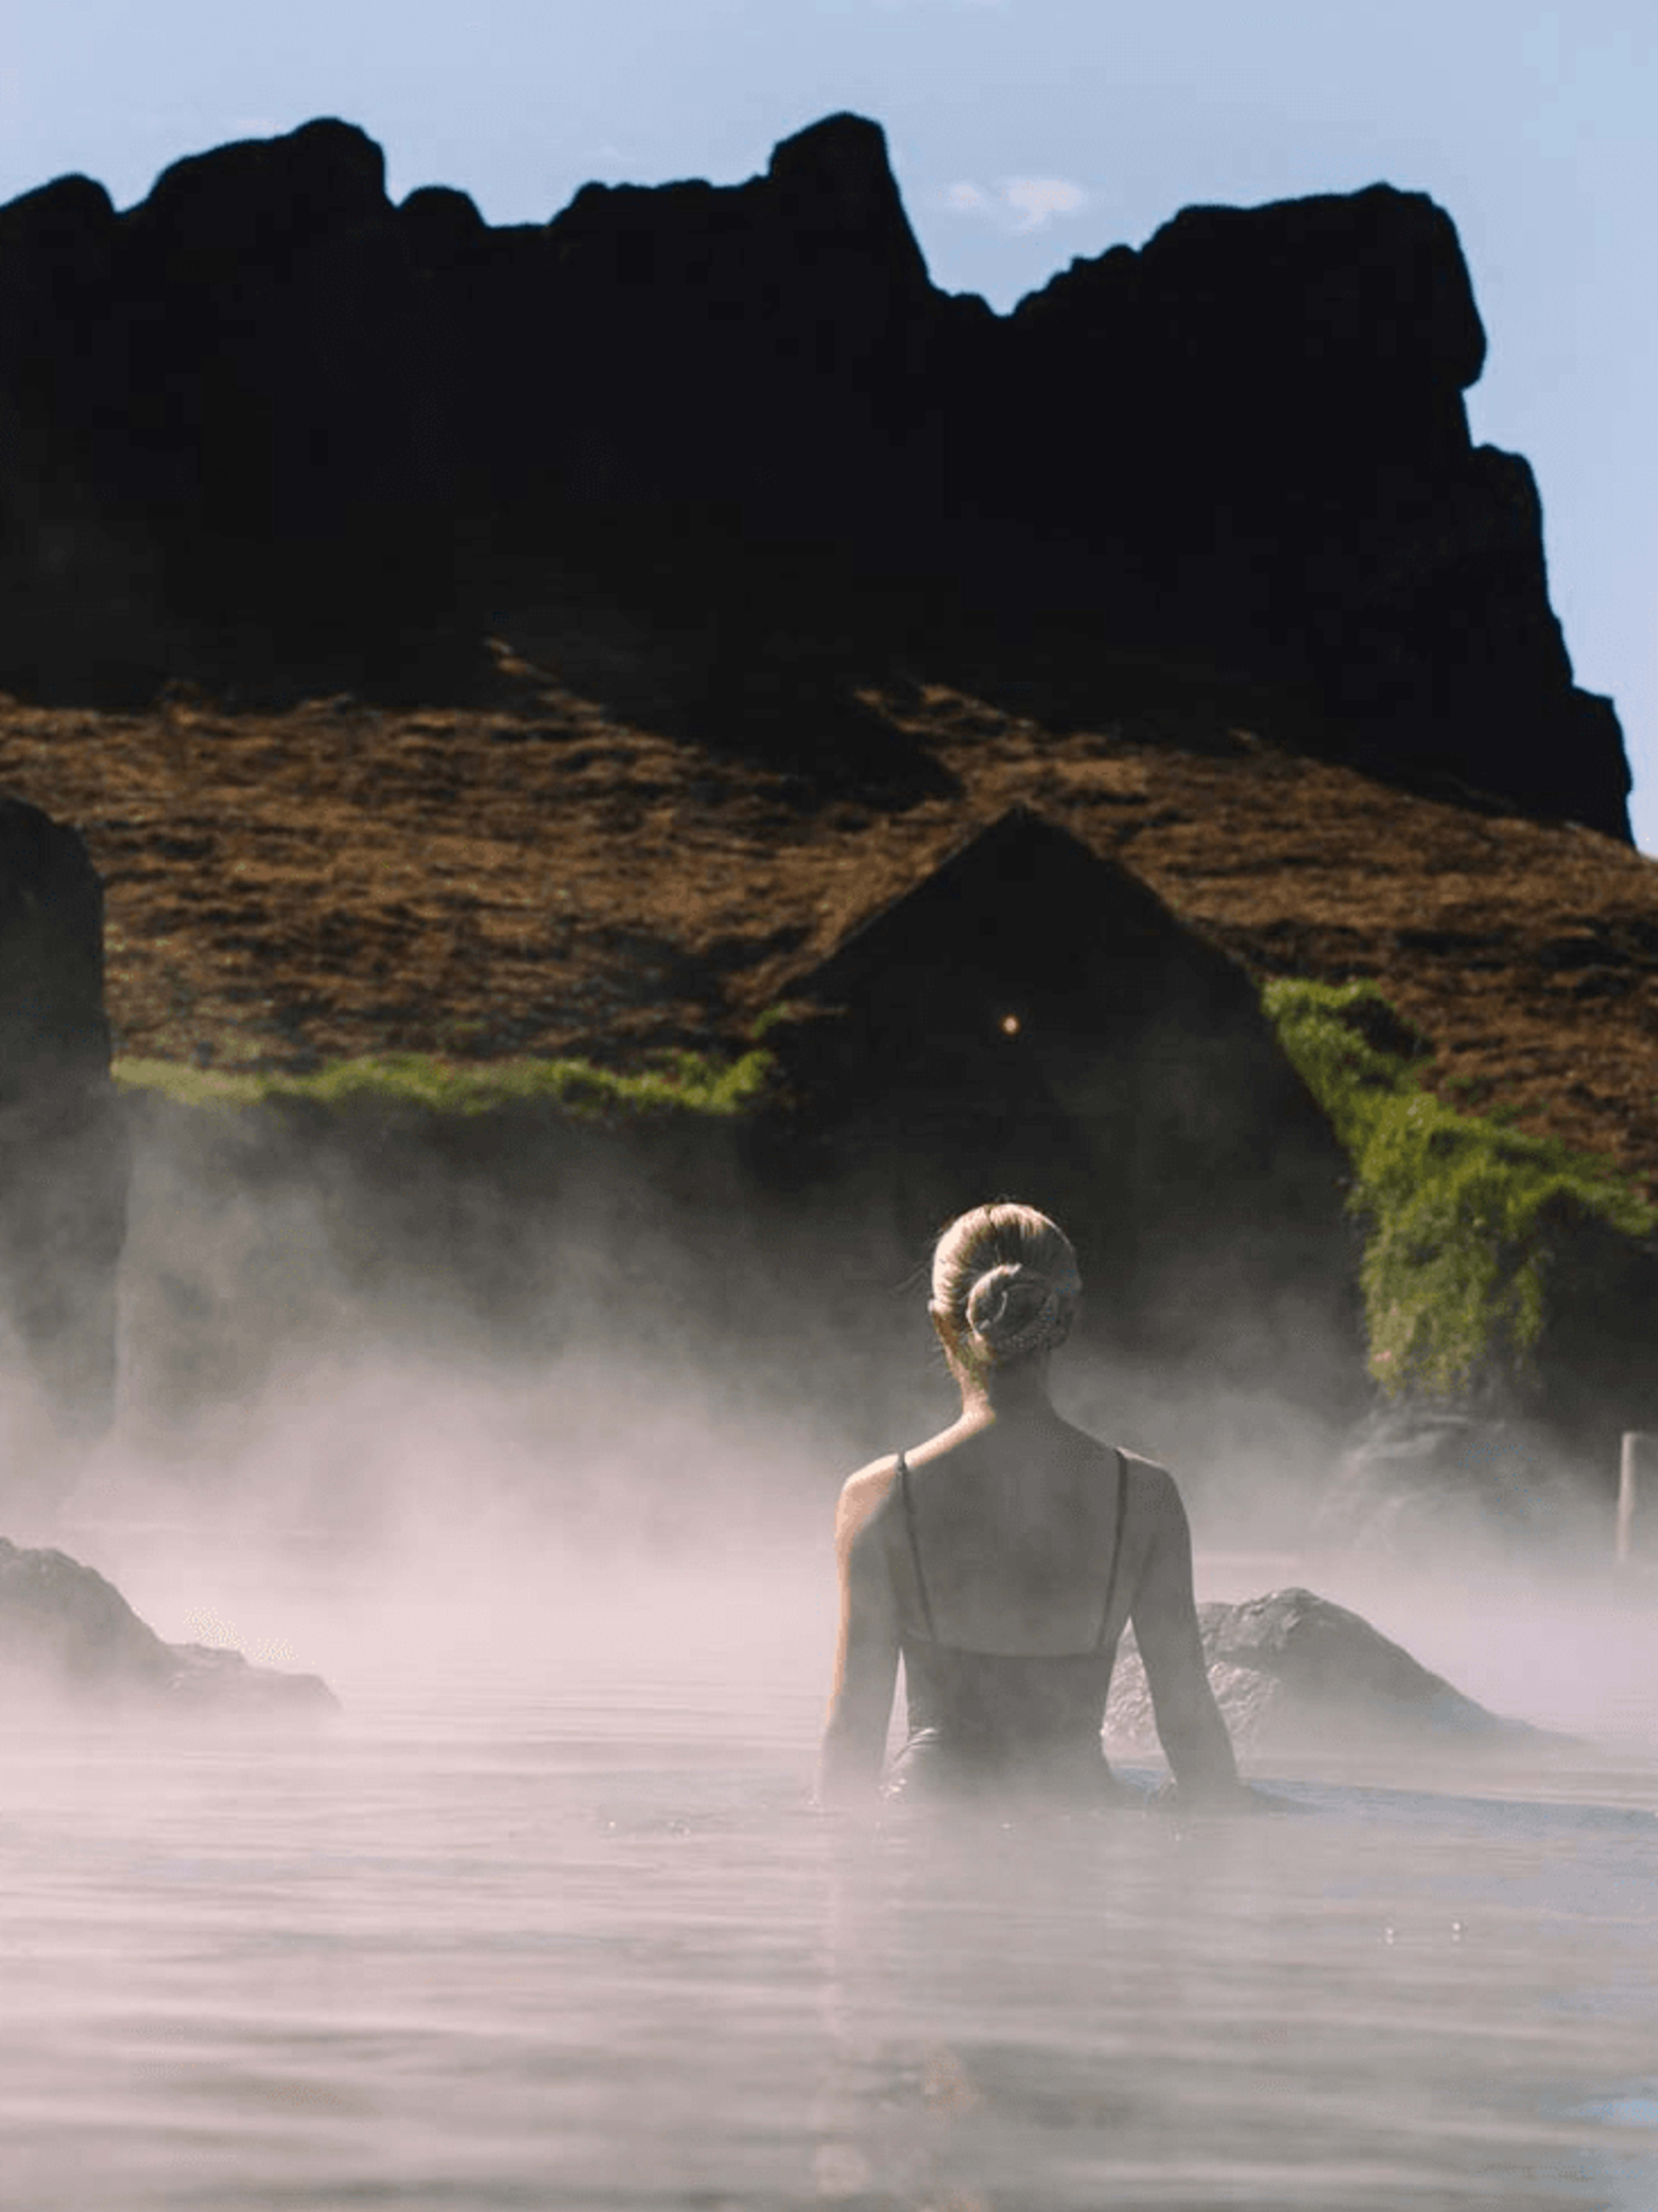
[[[1127,869],[1015,810],[789,998],[778,1172],[864,1225],[871,1283],[1015,1194],[1074,1237],[1108,1360],[1366,1400],[1346,1155],[1247,971]]]

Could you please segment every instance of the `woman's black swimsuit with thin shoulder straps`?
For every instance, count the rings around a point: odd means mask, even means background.
[[[1127,1502],[1123,1453],[1116,1453],[1116,1528],[1105,1606],[1094,1644],[1081,1652],[1019,1657],[940,1644],[933,1632],[922,1548],[915,1540],[909,1464],[902,1451],[898,1455],[898,1493],[924,1632],[917,1635],[911,1628],[902,1632],[909,1739],[893,1761],[889,1790],[906,1792],[920,1776],[926,1776],[928,1785],[951,1787],[1037,1783],[1063,1790],[1081,1787],[1094,1796],[1112,1792],[1116,1783],[1105,1765],[1099,1732],[1105,1721],[1116,1657],[1116,1641],[1108,1644],[1105,1637],[1112,1626],[1123,1562],[1123,1509]]]

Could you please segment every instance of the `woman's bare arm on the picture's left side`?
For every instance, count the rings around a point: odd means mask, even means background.
[[[833,1807],[858,1805],[875,1794],[886,1752],[900,1624],[878,1515],[891,1498],[895,1473],[895,1460],[862,1469],[847,1482],[836,1513],[840,1637],[818,1767],[818,1798]]]

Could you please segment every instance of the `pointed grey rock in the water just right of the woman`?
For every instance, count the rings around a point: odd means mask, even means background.
[[[1499,1750],[1559,1741],[1463,1697],[1357,1613],[1313,1590],[1198,1606],[1209,1688],[1240,1752]],[[1154,1750],[1156,1721],[1132,1632],[1123,1639],[1105,1741]]]

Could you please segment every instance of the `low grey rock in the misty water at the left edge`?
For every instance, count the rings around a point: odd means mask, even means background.
[[[316,1674],[248,1666],[241,1652],[164,1644],[115,1584],[62,1551],[0,1537],[0,1694],[88,1708],[307,1717],[338,1701]]]

